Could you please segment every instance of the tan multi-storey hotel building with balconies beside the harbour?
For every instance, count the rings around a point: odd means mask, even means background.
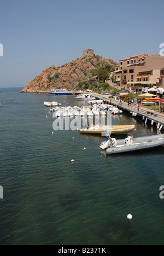
[[[143,87],[159,85],[163,67],[164,57],[159,54],[139,54],[127,57],[115,66],[114,81],[139,92]]]

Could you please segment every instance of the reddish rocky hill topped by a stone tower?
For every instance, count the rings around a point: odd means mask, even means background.
[[[83,89],[83,82],[92,77],[92,69],[116,65],[116,62],[110,59],[104,59],[102,56],[93,53],[83,56],[65,64],[61,67],[51,66],[45,68],[42,73],[28,82],[27,86],[21,92],[45,92],[51,89],[79,90]],[[79,85],[81,88],[79,88]]]

